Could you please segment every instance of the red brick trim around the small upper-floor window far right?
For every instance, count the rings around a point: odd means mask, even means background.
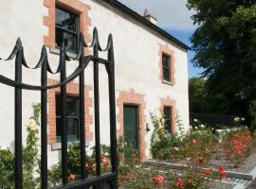
[[[163,82],[163,68],[162,68],[162,55],[166,54],[168,56],[170,56],[170,60],[171,60],[171,84],[174,85],[175,84],[175,59],[174,59],[174,51],[171,50],[168,45],[163,45],[159,43],[159,51],[158,51],[158,56],[159,56],[159,69],[160,69],[160,75],[159,78],[160,80]]]

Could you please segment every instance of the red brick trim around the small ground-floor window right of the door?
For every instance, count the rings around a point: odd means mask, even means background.
[[[176,128],[176,102],[171,99],[170,96],[167,98],[160,98],[161,100],[161,110],[163,110],[164,106],[172,107],[172,132],[175,133],[177,131]]]

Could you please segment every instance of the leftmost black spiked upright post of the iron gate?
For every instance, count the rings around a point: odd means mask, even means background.
[[[15,81],[22,82],[22,44],[18,39],[19,49],[15,59]],[[15,188],[23,188],[22,163],[22,89],[15,87]]]

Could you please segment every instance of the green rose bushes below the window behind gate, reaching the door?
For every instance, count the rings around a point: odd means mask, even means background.
[[[91,155],[87,155],[85,157],[86,167],[85,173],[87,177],[96,176],[96,150],[95,146],[91,147],[92,153]],[[125,164],[123,164],[124,152],[128,152],[131,154],[130,157],[125,159]],[[111,156],[110,156],[110,146],[101,145],[101,173],[107,173],[111,171]],[[80,144],[72,143],[68,145],[67,149],[67,157],[68,157],[68,175],[75,175],[75,180],[79,180],[81,177],[81,152],[80,152]],[[130,172],[131,168],[134,167],[137,162],[137,150],[134,149],[131,145],[125,143],[123,137],[119,137],[118,139],[118,164],[119,164],[119,173],[127,174]],[[103,163],[103,159],[105,159],[108,163]],[[48,185],[50,188],[54,188],[60,185],[62,180],[62,166],[61,163],[53,164],[51,168],[48,170]]]

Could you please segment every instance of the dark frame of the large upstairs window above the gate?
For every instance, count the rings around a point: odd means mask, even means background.
[[[76,15],[76,31],[72,31],[72,30],[69,30],[67,28],[64,28],[62,26],[58,26],[57,25],[57,22],[56,22],[56,17],[57,17],[57,14],[56,14],[56,11],[57,9],[61,9],[63,10],[64,12],[67,12],[67,13],[71,13],[73,15]],[[79,49],[79,35],[80,35],[80,14],[77,13],[77,12],[74,12],[70,9],[64,9],[63,7],[60,7],[58,5],[55,6],[55,23],[54,23],[54,27],[55,27],[55,48],[56,49],[61,49],[60,46],[57,45],[57,39],[56,39],[56,32],[57,32],[57,28],[66,32],[66,33],[70,33],[71,35],[75,35],[76,36],[76,41],[77,41],[77,45],[76,45],[76,49],[75,50],[68,50],[66,49],[67,52],[69,53],[72,53],[72,54],[77,54],[78,53],[78,49]]]

